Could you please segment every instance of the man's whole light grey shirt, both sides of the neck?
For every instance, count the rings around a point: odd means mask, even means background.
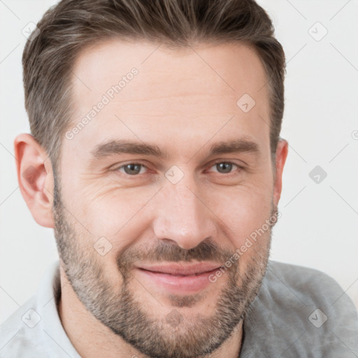
[[[80,358],[59,320],[60,294],[57,261],[1,324],[0,358]],[[328,275],[270,261],[243,326],[240,358],[254,357],[358,357],[357,310]]]

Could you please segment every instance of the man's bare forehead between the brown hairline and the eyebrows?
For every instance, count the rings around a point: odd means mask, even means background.
[[[136,74],[129,75],[133,69]],[[85,128],[76,135],[85,147],[104,137],[138,139],[139,134],[143,141],[157,136],[158,141],[177,138],[182,145],[196,139],[203,144],[215,131],[220,132],[216,138],[241,133],[268,141],[264,66],[241,43],[171,50],[145,41],[110,40],[81,52],[72,81],[71,127],[87,115]],[[255,103],[252,110],[238,106],[241,98],[249,106]],[[100,102],[106,104],[99,110]]]

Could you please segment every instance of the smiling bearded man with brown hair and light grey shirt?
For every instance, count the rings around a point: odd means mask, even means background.
[[[0,357],[358,357],[327,275],[268,261],[285,56],[252,0],[63,0],[23,55],[22,196],[59,263]]]

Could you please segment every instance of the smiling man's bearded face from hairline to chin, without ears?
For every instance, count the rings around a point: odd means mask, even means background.
[[[55,234],[66,277],[94,317],[145,355],[184,358],[217,348],[242,321],[266,269],[265,222],[279,195],[255,52],[156,48],[107,41],[78,58]],[[210,152],[229,142],[236,151]]]

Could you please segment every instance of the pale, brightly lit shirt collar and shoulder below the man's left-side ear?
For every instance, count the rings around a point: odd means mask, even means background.
[[[80,357],[57,310],[59,262],[45,270],[38,291],[0,326],[0,358]]]

